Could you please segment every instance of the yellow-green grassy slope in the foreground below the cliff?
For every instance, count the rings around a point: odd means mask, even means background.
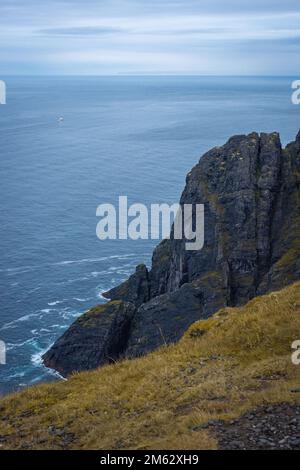
[[[300,282],[223,309],[147,357],[4,398],[2,448],[217,448],[199,425],[263,403],[300,403],[290,391],[300,386],[300,366],[291,362],[296,339]],[[73,440],[53,435],[50,425]]]

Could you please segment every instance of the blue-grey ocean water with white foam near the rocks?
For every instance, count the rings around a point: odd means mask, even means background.
[[[41,354],[101,292],[150,264],[156,241],[97,239],[99,204],[177,202],[202,153],[253,130],[287,143],[300,107],[297,77],[0,78],[4,394],[55,380]]]

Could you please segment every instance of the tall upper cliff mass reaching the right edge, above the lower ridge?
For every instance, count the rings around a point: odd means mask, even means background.
[[[299,279],[299,185],[300,132],[286,149],[277,133],[252,133],[206,153],[180,200],[205,205],[204,248],[187,251],[186,240],[172,234],[160,243],[148,276],[150,298],[217,272],[224,302],[236,306]]]

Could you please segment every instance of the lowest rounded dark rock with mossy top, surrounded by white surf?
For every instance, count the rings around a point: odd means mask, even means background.
[[[44,354],[44,364],[67,376],[113,362],[127,346],[134,313],[133,304],[121,301],[94,307]]]

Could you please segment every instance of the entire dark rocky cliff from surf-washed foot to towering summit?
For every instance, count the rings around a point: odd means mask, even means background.
[[[180,203],[204,204],[204,248],[187,251],[171,233],[150,271],[140,265],[104,294],[122,303],[101,307],[88,337],[85,316],[78,319],[44,356],[47,366],[67,375],[109,362],[107,350],[114,360],[145,354],[223,306],[300,278],[300,132],[285,149],[277,133],[232,137],[187,175]],[[120,309],[126,326],[114,330]]]

